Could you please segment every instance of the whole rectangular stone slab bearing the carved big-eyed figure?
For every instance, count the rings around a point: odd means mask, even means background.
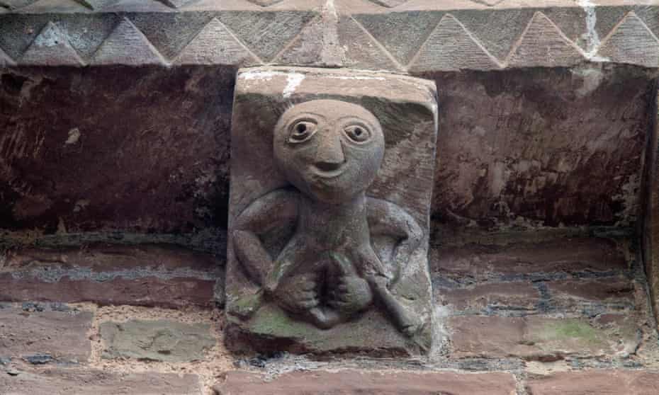
[[[230,345],[248,336],[257,348],[287,339],[293,350],[427,350],[434,87],[401,76],[312,70],[239,75],[227,268]],[[391,82],[390,91],[383,89],[389,80],[400,85],[402,103],[378,97],[397,93]],[[410,113],[406,106],[413,107]],[[402,130],[392,132],[397,127]],[[416,161],[420,177],[410,174],[413,181],[405,185],[396,160],[400,170]],[[356,341],[359,333],[363,338]]]

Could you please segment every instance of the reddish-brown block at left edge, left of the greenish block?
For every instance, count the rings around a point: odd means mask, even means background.
[[[88,311],[0,308],[0,356],[29,360],[43,355],[47,360],[84,362],[91,353],[91,318]]]

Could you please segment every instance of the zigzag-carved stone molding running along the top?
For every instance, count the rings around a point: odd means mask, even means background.
[[[659,68],[659,1],[596,2],[0,0],[0,67]]]

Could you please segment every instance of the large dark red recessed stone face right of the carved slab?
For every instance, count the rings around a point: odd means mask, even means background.
[[[647,75],[584,67],[434,79],[439,130],[451,131],[437,144],[438,224],[636,222],[653,100]]]

